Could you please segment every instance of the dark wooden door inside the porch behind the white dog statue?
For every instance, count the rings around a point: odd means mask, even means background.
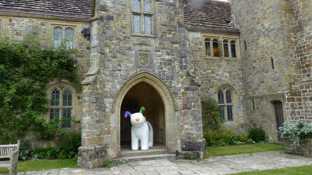
[[[136,113],[139,111],[138,102],[131,98],[124,98],[120,109],[120,144],[131,144],[131,122],[130,118],[125,119],[126,111]]]

